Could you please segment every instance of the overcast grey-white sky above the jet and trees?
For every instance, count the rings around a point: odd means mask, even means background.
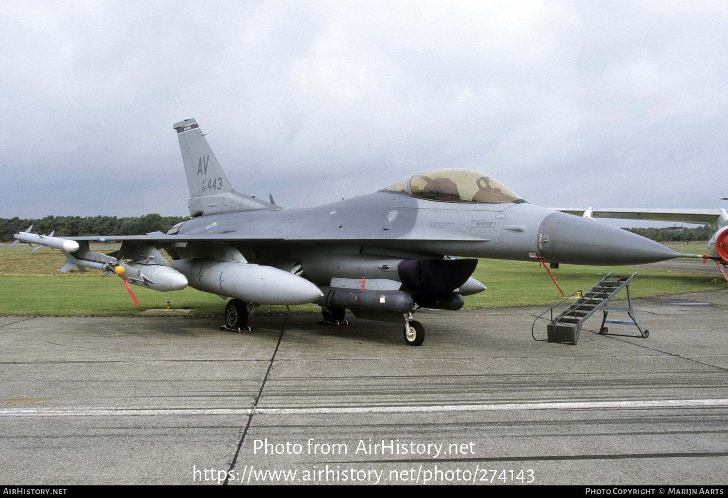
[[[190,117],[284,207],[440,167],[728,207],[725,1],[4,0],[0,67],[4,218],[186,216]]]

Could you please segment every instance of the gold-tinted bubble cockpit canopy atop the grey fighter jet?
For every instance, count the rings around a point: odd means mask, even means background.
[[[446,202],[526,202],[496,179],[475,170],[448,167],[405,178],[381,189]]]

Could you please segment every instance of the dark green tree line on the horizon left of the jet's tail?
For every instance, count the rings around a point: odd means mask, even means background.
[[[0,242],[12,242],[12,236],[33,225],[36,234],[48,235],[55,230],[55,237],[94,237],[114,235],[143,235],[167,231],[189,220],[189,216],[160,216],[157,213],[131,218],[116,216],[46,216],[39,219],[0,218]]]

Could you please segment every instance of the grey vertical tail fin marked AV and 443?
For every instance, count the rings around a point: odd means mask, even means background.
[[[232,188],[194,119],[175,123],[189,186],[189,216],[280,209]]]

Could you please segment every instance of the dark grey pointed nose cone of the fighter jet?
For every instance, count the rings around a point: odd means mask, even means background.
[[[544,218],[537,244],[541,256],[553,263],[645,264],[681,256],[632,232],[566,213]]]

